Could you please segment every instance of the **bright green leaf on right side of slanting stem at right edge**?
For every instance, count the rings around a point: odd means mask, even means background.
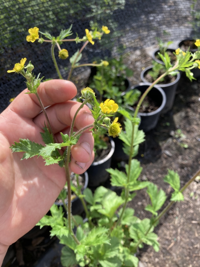
[[[168,170],[168,174],[165,176],[164,182],[169,183],[170,186],[174,189],[174,192],[171,194],[171,201],[184,200],[183,194],[179,192],[181,184],[177,172],[174,172],[173,170]]]

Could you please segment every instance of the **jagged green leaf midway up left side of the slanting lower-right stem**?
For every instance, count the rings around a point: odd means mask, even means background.
[[[158,213],[156,211],[162,207],[167,197],[162,189],[158,191],[158,187],[155,184],[149,183],[147,187],[147,194],[151,199],[151,205],[147,205],[145,210],[148,210],[157,216]]]

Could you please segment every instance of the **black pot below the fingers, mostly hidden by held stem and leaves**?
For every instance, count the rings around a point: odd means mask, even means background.
[[[87,174],[87,171],[84,172],[84,174],[81,174],[81,175],[84,175],[84,178],[85,178],[85,183],[84,183],[84,187],[82,189],[85,190],[87,188],[87,185],[88,185],[88,174]],[[65,202],[65,204],[67,205],[67,200]],[[56,205],[58,206],[62,206],[63,208],[63,212],[64,212],[64,216],[67,217],[67,213],[66,213],[66,210],[65,208],[63,207],[63,203],[56,203]],[[84,208],[83,208],[83,205],[80,201],[80,199],[78,197],[74,198],[72,201],[71,201],[71,213],[73,215],[80,215],[82,212],[84,211]]]

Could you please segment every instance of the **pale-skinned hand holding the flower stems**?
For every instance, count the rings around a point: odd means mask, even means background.
[[[0,266],[9,245],[13,244],[49,211],[66,183],[64,168],[45,166],[40,156],[21,160],[23,152],[9,148],[19,138],[43,144],[45,116],[34,94],[25,89],[0,114]],[[50,80],[42,83],[38,94],[46,109],[56,142],[62,142],[60,132],[69,133],[70,124],[80,103],[70,101],[77,94],[73,83]],[[74,131],[94,122],[85,105],[75,120]],[[47,122],[46,122],[47,124]],[[72,146],[70,170],[82,174],[94,159],[94,139],[86,130]]]

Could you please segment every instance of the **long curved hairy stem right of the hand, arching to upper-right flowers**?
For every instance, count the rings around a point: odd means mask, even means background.
[[[157,78],[157,80],[155,80],[147,89],[146,91],[143,93],[142,97],[140,98],[138,104],[137,104],[137,107],[135,109],[135,112],[134,112],[134,119],[137,117],[138,115],[138,111],[139,111],[139,108],[143,102],[143,100],[145,99],[146,95],[151,91],[151,89],[154,87],[155,84],[157,84],[163,77],[165,77],[166,75],[169,74],[169,72],[171,71],[174,71],[178,68],[178,61],[176,62],[176,64],[169,70],[167,70],[165,73],[163,73],[160,77]],[[128,170],[128,173],[127,173],[127,183],[129,183],[129,179],[130,179],[130,168],[131,168],[131,160],[132,160],[132,154],[133,154],[133,144],[134,144],[134,128],[135,128],[135,122],[132,122],[132,135],[131,135],[131,146],[130,146],[130,155],[129,155],[129,170]],[[123,216],[123,213],[126,209],[126,205],[127,205],[127,202],[128,202],[128,197],[129,197],[129,190],[128,189],[125,189],[125,203],[123,205],[123,209],[122,209],[122,213],[117,221],[117,224],[116,226],[119,225],[120,221],[121,221],[121,218]]]

